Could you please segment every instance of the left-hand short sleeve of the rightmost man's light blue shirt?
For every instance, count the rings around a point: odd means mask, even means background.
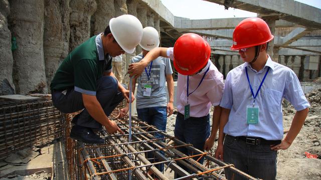
[[[230,78],[231,78],[231,75],[228,73],[225,79],[223,96],[220,102],[220,106],[227,109],[231,109],[233,105],[233,94],[232,94]]]

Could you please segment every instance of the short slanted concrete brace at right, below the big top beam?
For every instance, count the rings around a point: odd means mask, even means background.
[[[306,29],[303,27],[297,27],[293,29],[290,33],[288,33],[286,36],[281,38],[281,42],[276,43],[276,45],[288,45],[295,40],[303,37],[304,35],[310,33],[310,29]]]

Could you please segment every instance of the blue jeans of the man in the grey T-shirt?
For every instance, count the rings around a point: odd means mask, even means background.
[[[166,130],[166,123],[167,123],[167,107],[146,107],[146,108],[137,108],[137,115],[138,118],[141,119],[144,122],[147,122],[150,125],[154,125],[158,130]],[[164,138],[164,135],[161,133],[156,132],[154,134],[156,138]],[[162,151],[162,154],[164,152]],[[159,161],[157,158],[155,158],[153,152],[147,153],[147,158],[150,162],[157,162]],[[152,160],[154,159],[154,160]],[[157,164],[155,167],[158,168],[158,170],[163,171],[164,164]]]

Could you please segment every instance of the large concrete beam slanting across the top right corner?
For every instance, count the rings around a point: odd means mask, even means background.
[[[207,0],[224,5],[225,0]],[[229,7],[256,12],[276,14],[281,19],[321,29],[321,9],[294,0],[233,0]]]

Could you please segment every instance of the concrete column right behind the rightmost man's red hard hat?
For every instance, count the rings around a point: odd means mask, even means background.
[[[263,14],[257,14],[258,17],[265,20],[265,22],[270,27],[271,33],[274,35],[275,33],[275,21],[279,19],[278,15],[263,15]],[[278,49],[274,49],[274,39],[272,39],[268,44],[267,53],[271,56],[272,60],[275,62],[278,62],[278,55],[274,56],[274,52],[277,52]],[[275,58],[275,59],[274,59]]]

